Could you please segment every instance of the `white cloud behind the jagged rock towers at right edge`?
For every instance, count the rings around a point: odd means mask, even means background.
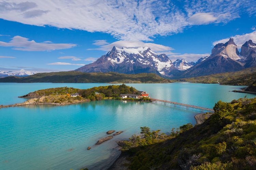
[[[234,39],[234,43],[236,43],[237,47],[240,49],[242,47],[242,45],[250,39],[254,43],[256,43],[256,31],[254,31],[252,33],[243,34],[243,35],[235,35],[235,36],[232,36],[232,38]],[[229,40],[229,38],[217,40],[217,41],[214,41],[212,43],[212,45],[216,45],[218,43],[226,43],[228,40]]]

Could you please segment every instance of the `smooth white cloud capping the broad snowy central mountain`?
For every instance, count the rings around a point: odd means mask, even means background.
[[[174,50],[171,47],[163,46],[160,44],[154,44],[154,43],[143,43],[142,41],[115,41],[114,43],[107,44],[100,46],[96,49],[88,49],[88,50],[102,50],[102,51],[110,51],[113,46],[116,46],[117,48],[131,48],[131,47],[149,47],[154,52],[169,52],[171,50]]]

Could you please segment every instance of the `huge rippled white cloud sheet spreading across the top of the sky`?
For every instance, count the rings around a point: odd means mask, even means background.
[[[181,3],[166,0],[32,1],[0,2],[0,18],[36,26],[104,32],[120,40],[137,41],[182,32],[190,26],[189,21],[226,23],[238,18],[240,13],[253,14],[255,6],[254,1],[247,0],[184,0]],[[206,19],[202,18],[203,13]]]

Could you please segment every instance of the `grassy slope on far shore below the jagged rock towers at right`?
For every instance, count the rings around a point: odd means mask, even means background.
[[[227,72],[195,78],[180,79],[179,81],[213,84],[219,82],[220,84],[225,85],[251,85],[254,81],[256,81],[256,68],[247,68],[236,72]]]

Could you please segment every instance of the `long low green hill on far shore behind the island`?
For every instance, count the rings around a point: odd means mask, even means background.
[[[7,77],[0,79],[0,82],[51,82],[51,83],[170,83],[174,80],[161,78],[153,73],[140,74],[120,74],[115,72],[109,73],[82,73],[79,71],[64,71],[38,73],[25,78]]]

